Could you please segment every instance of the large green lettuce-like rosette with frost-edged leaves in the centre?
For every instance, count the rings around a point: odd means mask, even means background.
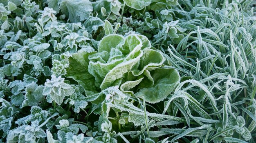
[[[81,49],[72,54],[65,76],[81,84],[87,96],[119,86],[124,93],[157,103],[180,81],[177,71],[165,65],[165,60],[145,36],[114,34],[103,37],[97,52]]]

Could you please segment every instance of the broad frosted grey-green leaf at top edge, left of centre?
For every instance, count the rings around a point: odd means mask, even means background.
[[[70,22],[86,20],[92,12],[92,4],[89,0],[63,0],[60,8]]]

